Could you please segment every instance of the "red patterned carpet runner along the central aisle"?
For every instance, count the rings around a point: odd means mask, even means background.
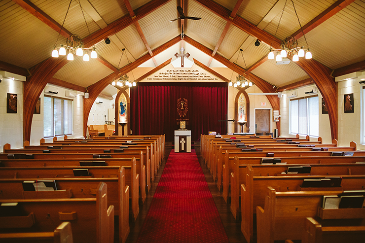
[[[195,150],[171,151],[137,243],[227,243]]]

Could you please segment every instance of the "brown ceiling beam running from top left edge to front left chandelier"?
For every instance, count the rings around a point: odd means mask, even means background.
[[[53,30],[55,30],[57,33],[61,32],[61,35],[68,38],[72,35],[71,32],[66,30],[64,27],[62,27],[57,21],[52,19],[49,15],[47,15],[45,12],[40,10],[35,4],[33,4],[29,0],[13,0],[16,2],[19,6],[36,16],[40,21],[51,27]]]

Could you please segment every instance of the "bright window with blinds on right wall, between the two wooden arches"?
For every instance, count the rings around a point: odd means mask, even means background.
[[[313,137],[319,136],[317,95],[290,101],[290,133]]]

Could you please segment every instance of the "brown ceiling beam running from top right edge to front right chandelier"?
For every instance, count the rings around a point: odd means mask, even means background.
[[[306,25],[303,26],[304,35],[328,20],[330,17],[347,7],[350,3],[354,2],[355,0],[338,0],[329,6],[325,11],[320,13],[314,19],[309,21]],[[295,39],[299,39],[303,36],[303,32],[301,29],[297,30],[292,36]]]

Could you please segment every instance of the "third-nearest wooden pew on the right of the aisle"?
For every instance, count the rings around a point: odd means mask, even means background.
[[[250,166],[248,166],[250,168]],[[296,193],[300,190],[307,190],[301,188],[301,185],[306,178],[323,178],[325,176],[254,176],[251,168],[250,174],[252,178],[247,175],[246,184],[241,184],[241,231],[248,242],[253,239],[254,231],[254,214],[256,207],[264,206],[267,186],[271,186],[276,191]],[[336,175],[338,176],[338,175]],[[341,175],[341,188],[335,190],[362,190],[365,188],[365,175]],[[318,189],[318,188],[316,188]],[[289,238],[288,239],[294,239]],[[295,239],[296,240],[296,239]]]

